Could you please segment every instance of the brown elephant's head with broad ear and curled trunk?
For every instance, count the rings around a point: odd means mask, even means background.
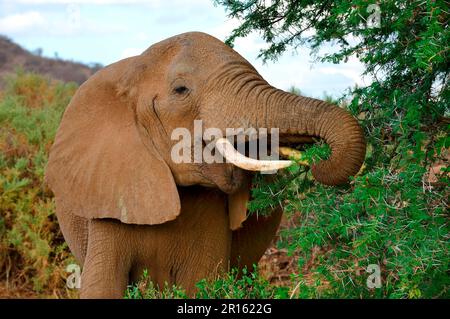
[[[331,156],[312,173],[328,185],[347,182],[365,155],[362,130],[348,112],[276,89],[221,41],[185,33],[98,71],[79,88],[46,172],[59,209],[90,219],[161,224],[180,213],[177,186],[189,185],[217,187],[230,194],[231,207],[245,209],[245,170],[172,160],[177,141],[171,132],[192,131],[199,119],[205,128],[223,131],[279,128],[281,144],[325,140]]]

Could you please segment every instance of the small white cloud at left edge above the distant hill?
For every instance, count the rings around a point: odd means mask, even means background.
[[[0,18],[0,33],[16,33],[45,25],[44,17],[37,11],[12,14]]]

